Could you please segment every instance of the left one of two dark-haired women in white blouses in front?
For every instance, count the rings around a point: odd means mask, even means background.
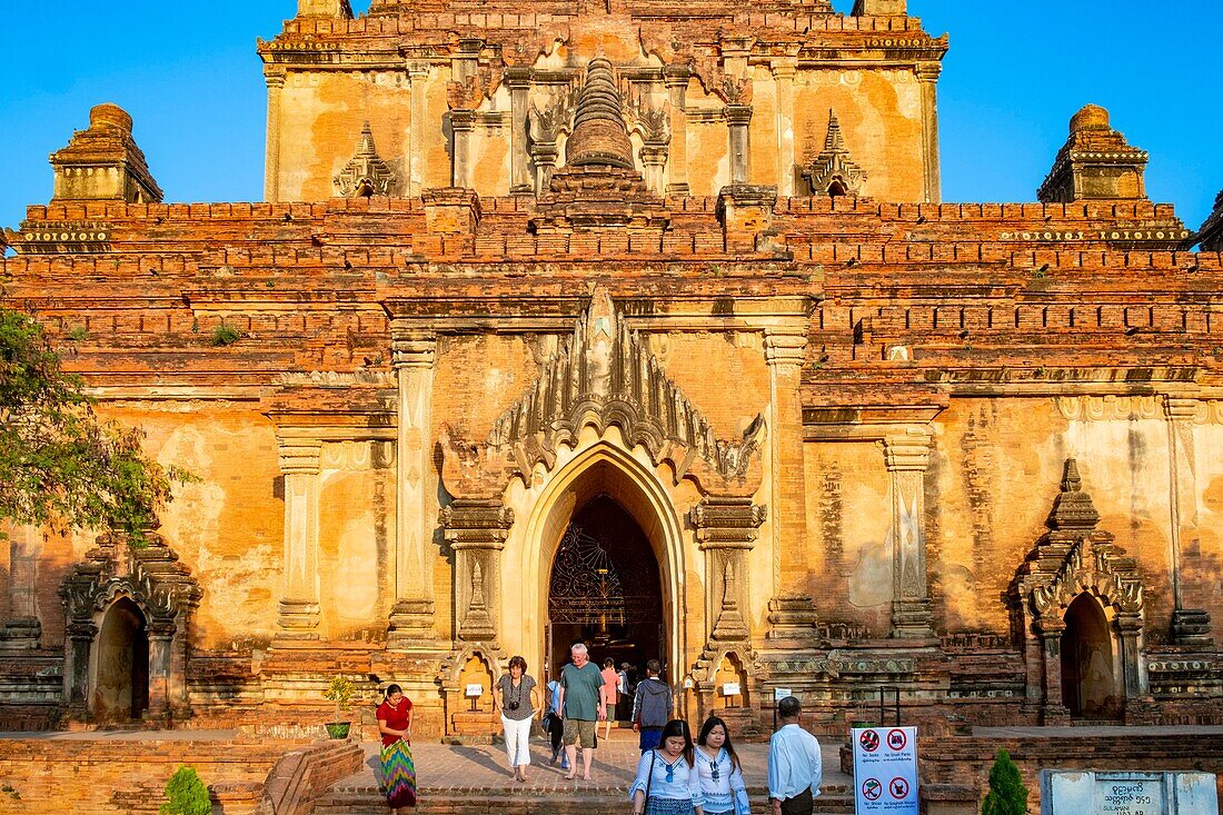
[[[687,722],[667,722],[659,746],[641,755],[629,799],[635,815],[704,815]]]

